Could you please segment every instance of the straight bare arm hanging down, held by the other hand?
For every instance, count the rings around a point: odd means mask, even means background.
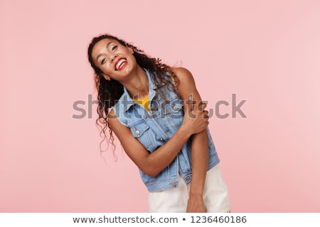
[[[193,104],[201,105],[201,96],[196,89],[191,72],[184,68],[175,68],[174,72],[179,79],[178,90],[181,99],[186,100],[192,95]],[[185,105],[185,109],[188,106]],[[193,116],[191,116],[193,117]],[[192,178],[188,199],[187,212],[205,212],[203,203],[203,188],[208,170],[208,133],[203,130],[193,135],[191,145]]]

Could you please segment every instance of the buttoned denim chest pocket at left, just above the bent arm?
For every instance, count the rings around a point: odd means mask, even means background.
[[[151,129],[149,128],[148,124],[142,120],[138,123],[132,124],[132,126],[129,126],[132,135],[134,138],[137,138],[140,143],[146,148],[146,150],[151,150],[152,148],[152,133]]]

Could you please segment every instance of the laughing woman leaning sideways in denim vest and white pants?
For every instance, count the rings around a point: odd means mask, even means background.
[[[169,67],[112,35],[92,39],[97,124],[139,167],[150,212],[229,212],[208,111],[191,72]]]

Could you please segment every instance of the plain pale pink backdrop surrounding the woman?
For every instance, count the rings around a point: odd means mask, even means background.
[[[146,212],[137,167],[100,157],[87,45],[101,33],[196,78],[233,212],[319,212],[320,1],[0,1],[0,211]],[[230,113],[230,106],[221,108]]]

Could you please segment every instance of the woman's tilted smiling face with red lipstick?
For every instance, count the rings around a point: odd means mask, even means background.
[[[102,70],[105,79],[121,81],[137,66],[133,50],[110,38],[97,42],[91,56],[95,65]]]

